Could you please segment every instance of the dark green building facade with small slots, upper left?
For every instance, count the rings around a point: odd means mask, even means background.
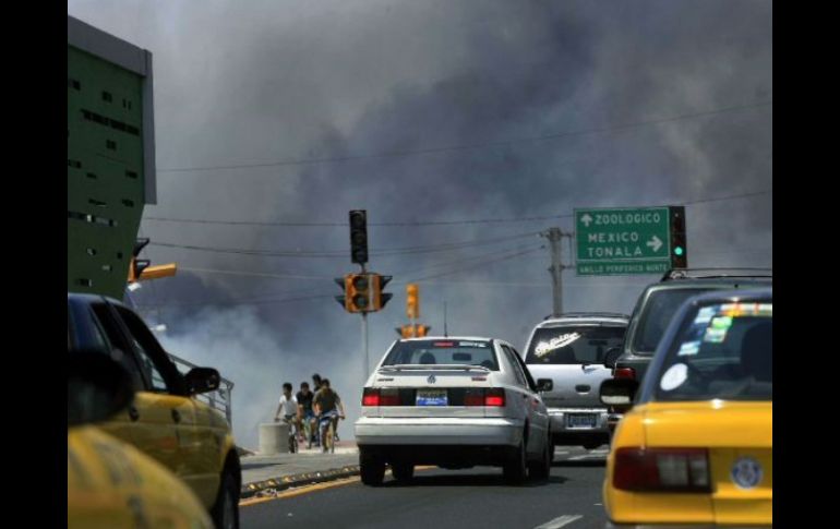
[[[156,203],[152,53],[68,16],[68,291],[122,299]]]

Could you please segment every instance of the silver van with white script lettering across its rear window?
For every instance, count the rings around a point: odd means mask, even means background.
[[[624,314],[566,313],[547,318],[531,333],[525,363],[548,388],[542,397],[554,445],[592,449],[610,442],[610,413],[598,392],[612,376],[604,356],[621,347],[628,321]]]

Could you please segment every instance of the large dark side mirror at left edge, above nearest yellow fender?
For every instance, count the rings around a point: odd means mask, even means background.
[[[69,351],[67,370],[68,428],[104,421],[134,400],[131,374],[107,352]]]

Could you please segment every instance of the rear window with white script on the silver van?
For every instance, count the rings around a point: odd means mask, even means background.
[[[533,333],[525,362],[528,364],[603,363],[612,347],[621,347],[624,325],[564,325]]]

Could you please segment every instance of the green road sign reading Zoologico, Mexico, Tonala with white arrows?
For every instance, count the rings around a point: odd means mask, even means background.
[[[578,276],[661,274],[671,267],[668,207],[575,209]]]

